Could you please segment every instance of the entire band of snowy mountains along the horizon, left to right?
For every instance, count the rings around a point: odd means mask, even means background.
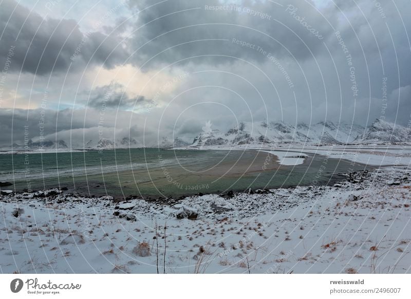
[[[390,144],[411,143],[411,129],[394,123],[376,119],[370,126],[356,124],[335,124],[319,122],[313,125],[300,123],[297,125],[285,122],[240,122],[233,128],[222,132],[213,128],[211,122],[202,127],[202,132],[188,140],[188,137],[163,136],[155,143],[145,143],[132,137],[118,139],[98,138],[85,140],[84,145],[71,145],[69,140],[43,140],[25,144],[14,143],[13,150],[37,150],[70,148],[114,149],[139,147],[192,147],[239,146],[244,144],[264,145],[270,147],[296,145],[330,145],[330,144]]]

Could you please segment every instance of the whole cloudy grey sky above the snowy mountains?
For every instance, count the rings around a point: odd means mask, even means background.
[[[3,0],[0,146],[190,142],[208,121],[407,125],[409,11],[406,0]]]

